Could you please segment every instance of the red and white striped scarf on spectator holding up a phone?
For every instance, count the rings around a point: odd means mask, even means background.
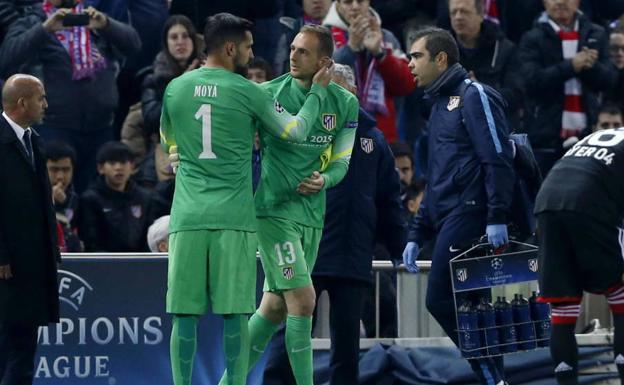
[[[50,0],[45,0],[43,10],[50,17],[57,9]],[[78,1],[72,8],[72,13],[82,12],[84,5],[82,1]],[[71,59],[73,80],[93,77],[96,72],[106,68],[106,59],[94,45],[91,45],[91,34],[87,27],[69,27],[56,32],[55,35]]]

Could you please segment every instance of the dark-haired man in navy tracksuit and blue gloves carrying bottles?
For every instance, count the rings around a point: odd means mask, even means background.
[[[503,110],[492,88],[468,79],[449,32],[427,28],[416,34],[410,69],[433,102],[429,117],[427,188],[410,224],[403,252],[416,272],[420,246],[436,237],[427,287],[427,309],[458,344],[449,260],[485,232],[495,248],[508,242],[507,221],[515,174],[513,147]],[[469,360],[487,385],[503,384],[502,357]]]

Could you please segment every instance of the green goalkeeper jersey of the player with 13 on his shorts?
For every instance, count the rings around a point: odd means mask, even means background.
[[[290,113],[299,111],[306,93],[289,74],[262,84]],[[256,191],[258,217],[278,217],[305,226],[323,228],[325,189],[335,186],[347,173],[358,121],[358,101],[335,83],[327,87],[320,114],[305,142],[280,141],[266,134],[262,139],[262,177]],[[261,129],[262,133],[263,130]],[[313,171],[325,178],[323,191],[304,196],[297,186]]]

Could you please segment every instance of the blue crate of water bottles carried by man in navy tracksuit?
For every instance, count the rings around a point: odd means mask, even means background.
[[[548,346],[550,309],[516,295],[491,304],[490,288],[537,280],[537,246],[511,240],[503,252],[478,243],[449,262],[457,333],[465,358],[491,357]],[[480,303],[469,298],[479,296]],[[463,303],[458,303],[463,301]]]

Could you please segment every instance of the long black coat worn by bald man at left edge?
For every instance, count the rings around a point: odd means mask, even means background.
[[[56,263],[60,261],[52,192],[41,139],[32,135],[34,167],[0,115],[0,322],[46,325],[59,317]]]

